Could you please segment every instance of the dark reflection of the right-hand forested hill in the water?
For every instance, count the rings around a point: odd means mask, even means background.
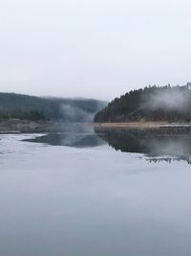
[[[96,128],[96,132],[117,151],[144,153],[151,161],[180,159],[190,162],[190,128]]]

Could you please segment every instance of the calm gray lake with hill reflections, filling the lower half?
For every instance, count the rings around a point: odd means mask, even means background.
[[[0,255],[191,255],[191,129],[0,134]]]

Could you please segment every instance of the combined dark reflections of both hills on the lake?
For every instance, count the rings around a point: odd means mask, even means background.
[[[191,128],[85,128],[75,127],[28,139],[29,142],[74,148],[108,144],[116,151],[142,153],[149,161],[185,160],[191,163]]]

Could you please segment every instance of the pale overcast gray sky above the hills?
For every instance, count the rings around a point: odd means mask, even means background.
[[[111,100],[191,81],[190,0],[1,0],[0,91]]]

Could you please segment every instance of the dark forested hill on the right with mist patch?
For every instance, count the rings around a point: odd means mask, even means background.
[[[190,122],[191,91],[183,86],[149,86],[116,98],[95,116],[105,122]]]

